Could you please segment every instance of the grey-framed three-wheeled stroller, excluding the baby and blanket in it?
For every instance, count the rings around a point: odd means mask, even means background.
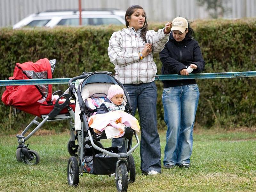
[[[74,81],[80,81],[76,91]],[[118,147],[103,148],[99,144],[100,140],[107,139],[105,131],[101,135],[96,134],[89,127],[89,116],[99,107],[92,108],[90,100],[106,98],[108,88],[118,84],[124,89],[124,104],[125,111],[132,114],[132,107],[128,93],[124,86],[117,81],[112,75],[104,72],[95,72],[90,75],[81,75],[70,79],[69,92],[76,98],[76,115],[75,115],[75,130],[78,133],[78,159],[71,156],[68,159],[67,177],[70,186],[77,186],[79,182],[79,174],[84,172],[84,159],[91,157],[90,172],[95,175],[110,175],[115,173],[116,188],[118,191],[127,191],[128,182],[135,181],[135,163],[132,157],[132,152],[139,145],[137,133],[131,127],[125,127],[124,138],[125,153],[120,153]],[[96,102],[97,103],[97,102]],[[81,112],[78,112],[81,111]],[[78,126],[77,126],[78,125]],[[135,136],[137,143],[132,148],[132,137]],[[86,165],[87,166],[87,165]],[[93,171],[92,171],[93,169]],[[129,173],[128,173],[129,172]]]

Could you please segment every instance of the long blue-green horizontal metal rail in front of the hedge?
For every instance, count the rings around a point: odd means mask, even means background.
[[[156,80],[180,80],[180,79],[217,79],[236,77],[255,77],[256,71],[227,72],[227,73],[199,73],[189,75],[156,75]],[[1,80],[0,86],[9,85],[39,85],[39,84],[68,84],[71,78],[56,79],[22,79],[22,80]]]

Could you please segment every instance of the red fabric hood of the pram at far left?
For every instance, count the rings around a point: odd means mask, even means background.
[[[35,63],[28,61],[25,63],[16,63],[13,79],[51,79],[52,69],[48,59],[40,59]],[[2,95],[2,101],[5,105],[13,105],[16,108],[27,113],[40,116],[38,111],[41,103],[38,100],[45,97],[46,101],[52,99],[52,85],[12,85],[6,86]]]

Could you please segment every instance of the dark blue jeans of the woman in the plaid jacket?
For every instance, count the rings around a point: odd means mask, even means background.
[[[124,87],[131,99],[132,115],[135,115],[136,108],[140,115],[140,169],[143,174],[152,170],[161,172],[161,148],[156,122],[156,84],[124,84]],[[112,146],[121,146],[122,141],[123,139],[113,139]]]

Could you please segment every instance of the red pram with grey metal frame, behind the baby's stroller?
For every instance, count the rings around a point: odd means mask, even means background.
[[[50,79],[55,68],[56,60],[40,59],[33,62],[17,63],[13,79]],[[55,99],[53,99],[53,97]],[[52,93],[52,85],[15,85],[6,86],[6,90],[2,95],[2,101],[5,105],[14,106],[26,113],[35,115],[36,117],[28,124],[21,134],[17,134],[18,147],[16,150],[16,158],[18,162],[26,164],[37,164],[40,157],[35,150],[25,145],[27,141],[45,122],[52,121],[69,121],[70,140],[68,141],[68,152],[70,155],[76,155],[78,145],[77,135],[74,132],[73,119],[75,118],[75,104],[71,103],[72,97],[65,92],[57,91]],[[41,120],[41,122],[40,122]],[[26,132],[34,125],[36,127],[27,136]]]

